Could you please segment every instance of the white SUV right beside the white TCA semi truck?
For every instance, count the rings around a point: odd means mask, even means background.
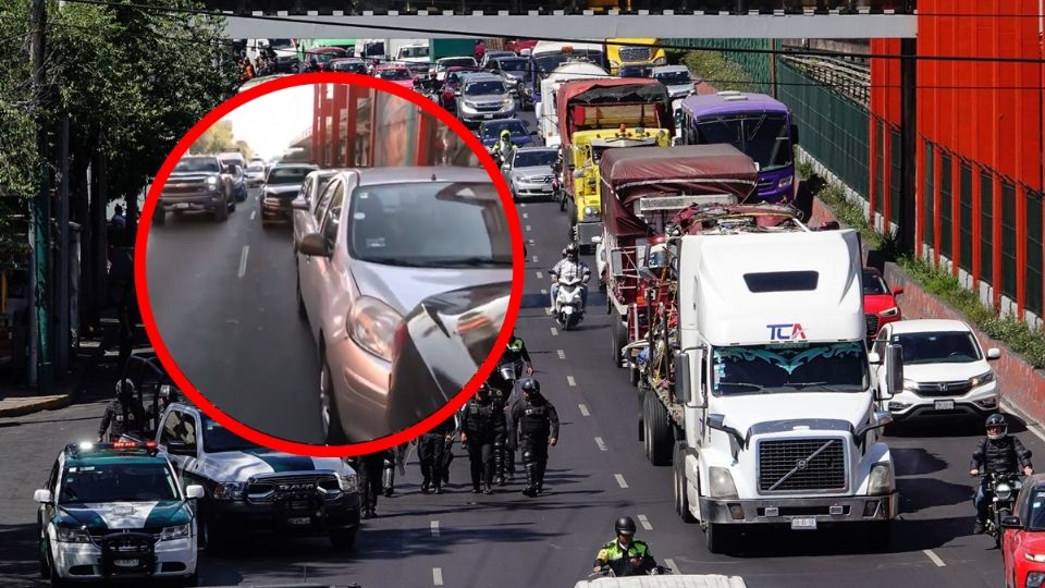
[[[900,320],[886,324],[874,343],[878,357],[885,357],[885,344],[903,348],[903,390],[883,408],[893,413],[894,422],[911,417],[986,416],[998,411],[998,382],[987,364],[1001,352],[980,346],[975,334],[960,320]],[[880,390],[884,390],[886,370],[874,366]]]

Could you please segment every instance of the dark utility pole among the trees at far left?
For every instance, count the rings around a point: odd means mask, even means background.
[[[47,167],[48,137],[44,102],[44,56],[47,8],[45,0],[33,0],[30,7],[29,59],[33,65],[33,114],[36,124],[36,145],[39,164],[39,191],[29,213],[32,262],[29,264],[29,385],[37,390],[50,384],[50,344],[48,341],[47,259],[50,215],[50,175]]]

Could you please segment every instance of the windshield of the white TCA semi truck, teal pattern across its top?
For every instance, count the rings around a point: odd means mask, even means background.
[[[715,347],[711,387],[716,396],[868,389],[862,341]]]

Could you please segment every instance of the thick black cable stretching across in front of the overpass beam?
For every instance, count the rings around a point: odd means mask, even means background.
[[[296,23],[296,24],[316,24],[324,26],[337,26],[337,27],[348,27],[348,28],[359,28],[360,25],[354,25],[348,23],[337,23],[329,21],[317,21],[317,20],[307,20],[307,19],[295,19],[290,16],[268,16],[268,15],[254,15],[254,14],[243,14],[243,15],[229,15],[221,12],[212,12],[208,10],[198,10],[198,9],[183,9],[183,8],[168,8],[168,7],[157,7],[153,4],[137,4],[137,3],[122,3],[115,2],[112,0],[65,0],[70,3],[77,4],[96,4],[104,7],[120,7],[120,8],[134,8],[143,11],[158,11],[158,12],[173,12],[182,14],[193,14],[199,16],[214,16],[226,19],[229,16],[235,16],[237,19],[249,19],[257,21],[266,22],[285,22],[285,23]],[[394,30],[399,33],[438,33],[442,35],[462,35],[462,30],[447,30],[447,29],[434,29],[430,27],[410,27],[410,26],[392,26],[392,25],[371,25],[367,24],[362,26],[364,28],[371,28],[374,30]],[[514,35],[505,34],[494,34],[494,33],[468,33],[469,36],[477,38],[501,38],[508,39],[515,38]],[[582,39],[567,39],[563,37],[529,37],[533,40],[542,41],[553,41],[553,42],[590,42]],[[611,44],[618,45],[618,44]],[[857,57],[861,59],[888,59],[888,60],[915,60],[915,61],[957,61],[957,62],[982,62],[982,63],[1028,63],[1041,65],[1045,63],[1045,59],[1035,59],[1035,58],[1003,58],[1003,57],[974,57],[974,56],[903,56],[903,54],[892,54],[892,53],[848,53],[845,51],[831,51],[826,49],[802,49],[800,51],[794,50],[782,50],[782,49],[757,49],[757,48],[743,48],[743,49],[728,49],[724,50],[721,47],[703,47],[703,46],[683,46],[683,45],[673,45],[664,42],[628,42],[627,47],[651,47],[651,48],[661,48],[661,49],[680,49],[680,50],[690,50],[690,51],[730,51],[735,53],[761,53],[761,54],[799,54],[799,56],[809,56],[809,57]]]

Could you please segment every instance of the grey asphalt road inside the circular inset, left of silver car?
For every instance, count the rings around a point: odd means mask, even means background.
[[[253,188],[226,222],[149,231],[149,303],[163,343],[210,402],[265,433],[322,443],[316,345],[297,317],[290,228],[261,228]]]

